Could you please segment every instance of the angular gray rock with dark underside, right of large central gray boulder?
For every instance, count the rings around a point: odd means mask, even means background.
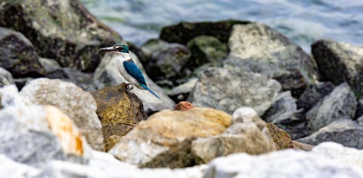
[[[297,109],[295,101],[290,91],[283,92],[262,116],[267,123],[285,130],[292,139],[308,136],[305,115]]]

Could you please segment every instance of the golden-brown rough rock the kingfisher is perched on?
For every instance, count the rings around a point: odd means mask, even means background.
[[[96,113],[105,139],[111,135],[124,136],[147,118],[141,100],[120,89],[126,89],[126,83],[90,92],[97,103]]]

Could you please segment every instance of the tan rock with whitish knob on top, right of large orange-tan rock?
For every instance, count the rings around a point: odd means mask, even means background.
[[[266,123],[250,107],[240,107],[232,115],[232,125],[222,134],[198,138],[192,142],[197,164],[205,164],[220,156],[233,153],[259,155],[278,150]]]

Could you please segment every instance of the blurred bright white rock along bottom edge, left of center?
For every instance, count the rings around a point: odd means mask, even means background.
[[[65,161],[52,161],[38,177],[170,177],[170,178],[199,178],[203,176],[206,165],[190,168],[170,169],[139,169],[129,163],[120,162],[112,155],[93,151],[88,164],[81,165]]]

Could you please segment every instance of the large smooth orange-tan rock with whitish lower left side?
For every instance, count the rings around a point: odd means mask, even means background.
[[[109,153],[139,167],[185,167],[194,163],[191,142],[222,133],[231,115],[211,109],[164,110],[142,121]]]

